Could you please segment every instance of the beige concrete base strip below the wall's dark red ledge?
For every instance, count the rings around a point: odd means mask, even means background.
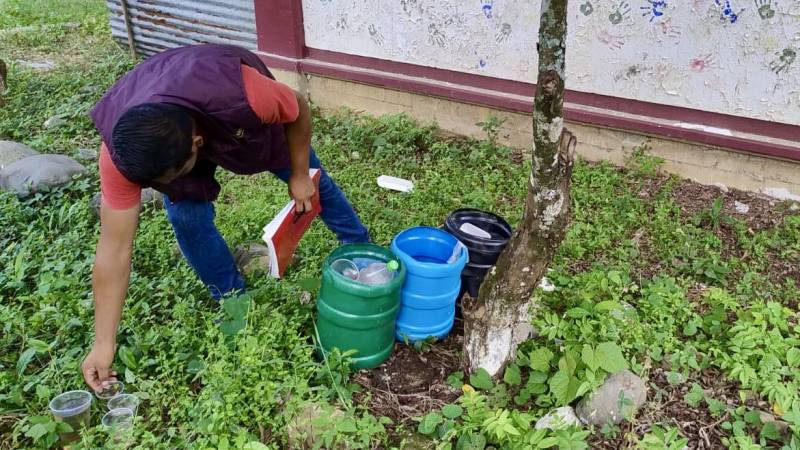
[[[479,122],[495,116],[505,119],[501,142],[531,149],[532,121],[528,114],[457,102],[449,99],[397,91],[379,86],[291,71],[273,71],[278,80],[306,94],[323,110],[348,107],[372,115],[408,113],[421,122],[436,122],[447,132],[485,137]],[[786,190],[800,199],[800,163],[647,136],[624,130],[569,123],[578,137],[578,154],[589,161],[623,165],[633,149],[649,148],[649,154],[664,160],[662,169],[702,184],[723,184],[752,192]]]

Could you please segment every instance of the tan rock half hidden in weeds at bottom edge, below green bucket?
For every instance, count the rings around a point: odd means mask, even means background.
[[[344,417],[344,412],[331,405],[309,403],[286,425],[289,448],[320,448],[319,444],[322,444],[321,439],[323,434],[334,430],[336,428],[336,419],[341,417]],[[319,419],[322,418],[328,418],[330,420],[320,421]],[[335,445],[333,448],[347,448],[347,446],[345,444],[339,444]]]

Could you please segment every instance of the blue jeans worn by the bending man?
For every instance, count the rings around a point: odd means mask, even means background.
[[[310,167],[322,167],[313,149]],[[289,169],[272,173],[284,182],[289,180]],[[340,243],[370,241],[369,232],[350,202],[324,170],[319,180],[319,195],[322,206],[320,217]],[[164,196],[164,208],[181,252],[211,295],[219,299],[231,292],[244,291],[244,278],[236,268],[228,244],[214,225],[214,205],[193,200],[173,203]]]

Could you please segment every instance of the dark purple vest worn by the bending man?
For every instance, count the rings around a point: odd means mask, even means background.
[[[217,166],[238,174],[289,167],[283,125],[265,125],[247,102],[245,64],[274,79],[252,52],[231,45],[192,45],[167,50],[142,62],[117,81],[90,115],[117,160],[111,135],[125,111],[143,103],[172,103],[192,110],[204,145],[194,169],[168,185],[152,187],[172,201],[213,201],[220,186]]]

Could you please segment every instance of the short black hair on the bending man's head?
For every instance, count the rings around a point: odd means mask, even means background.
[[[169,103],[134,106],[114,126],[114,163],[130,181],[151,183],[186,163],[193,130],[192,114],[186,108]]]

